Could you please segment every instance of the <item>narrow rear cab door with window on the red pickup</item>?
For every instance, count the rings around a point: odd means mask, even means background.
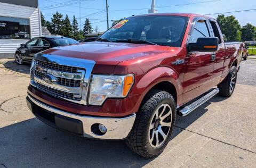
[[[209,20],[210,21],[210,27],[212,31],[212,37],[218,37],[219,38],[219,45],[218,50],[215,52],[215,58],[214,58],[214,66],[213,66],[213,82],[214,85],[218,85],[221,80],[222,72],[223,72],[223,64],[225,61],[225,43],[223,40],[223,37],[221,36],[221,31],[218,27],[218,23],[215,20]]]

